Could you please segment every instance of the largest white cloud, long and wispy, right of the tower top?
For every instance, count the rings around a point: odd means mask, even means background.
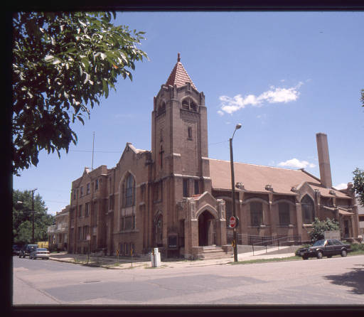
[[[234,97],[220,96],[221,107],[218,114],[222,115],[222,112],[232,114],[233,112],[245,108],[245,106],[251,104],[255,107],[261,107],[263,102],[279,103],[279,102],[291,102],[297,100],[299,97],[299,87],[304,85],[303,82],[299,82],[298,85],[291,88],[269,87],[269,90],[262,92],[258,97],[255,95],[236,95]]]

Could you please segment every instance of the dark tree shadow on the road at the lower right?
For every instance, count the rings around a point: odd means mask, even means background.
[[[364,264],[359,264],[364,267]],[[352,271],[338,274],[324,276],[331,281],[332,284],[350,287],[351,294],[364,294],[364,268],[353,268]]]

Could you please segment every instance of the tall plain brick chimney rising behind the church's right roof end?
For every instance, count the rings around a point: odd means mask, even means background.
[[[316,134],[317,153],[319,154],[320,178],[321,185],[331,188],[333,182],[331,179],[330,158],[328,157],[327,135],[324,133]]]

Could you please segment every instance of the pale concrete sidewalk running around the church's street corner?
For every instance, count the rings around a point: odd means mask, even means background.
[[[237,254],[238,261],[250,261],[254,259],[274,259],[294,256],[294,252],[281,253],[281,254],[266,254],[265,250],[255,251],[255,255],[252,252],[245,252]],[[90,256],[90,260],[87,264],[87,254],[68,254],[66,252],[50,254],[50,259],[59,262],[69,262],[76,264],[84,264],[95,267],[105,267],[107,269],[134,269],[134,268],[151,268],[151,261],[148,257],[135,257],[126,258],[120,257],[119,262],[117,257],[105,256],[94,257]],[[227,255],[223,259],[198,259],[198,260],[183,260],[183,259],[166,259],[161,261],[161,267],[159,268],[176,268],[176,267],[205,267],[210,265],[223,265],[233,262],[234,258]],[[154,269],[154,268],[153,268]],[[155,268],[157,269],[157,268]]]

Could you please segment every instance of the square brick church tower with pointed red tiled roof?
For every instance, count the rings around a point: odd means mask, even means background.
[[[211,193],[205,96],[193,84],[179,53],[171,75],[154,97],[151,156],[154,224],[159,223],[154,230],[156,245],[166,246],[171,235],[182,234],[177,203]]]

